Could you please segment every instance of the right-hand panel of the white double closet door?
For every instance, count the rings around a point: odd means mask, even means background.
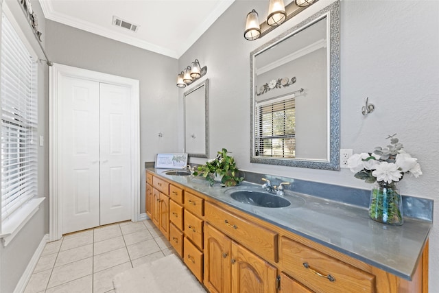
[[[100,224],[131,219],[130,89],[100,84]]]

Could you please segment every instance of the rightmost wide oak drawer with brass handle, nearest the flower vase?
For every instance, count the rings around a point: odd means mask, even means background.
[[[281,263],[291,277],[316,292],[375,292],[373,274],[287,237],[281,237]]]

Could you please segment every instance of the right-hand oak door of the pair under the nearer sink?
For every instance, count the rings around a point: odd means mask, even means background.
[[[277,270],[232,242],[232,293],[276,293]]]

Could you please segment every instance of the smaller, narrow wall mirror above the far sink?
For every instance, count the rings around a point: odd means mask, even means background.
[[[189,156],[209,156],[209,79],[184,94],[185,152]]]

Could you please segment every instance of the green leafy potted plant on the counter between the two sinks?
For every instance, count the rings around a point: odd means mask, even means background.
[[[205,165],[199,165],[193,175],[203,176],[211,185],[215,183],[215,177],[221,178],[221,183],[226,186],[238,185],[244,177],[239,177],[235,159],[228,154],[229,152],[223,148],[215,159],[207,161]]]

